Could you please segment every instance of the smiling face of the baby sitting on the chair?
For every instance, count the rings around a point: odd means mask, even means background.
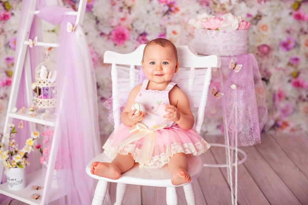
[[[152,44],[146,48],[142,69],[150,81],[156,84],[169,83],[178,67],[179,63],[171,46]]]

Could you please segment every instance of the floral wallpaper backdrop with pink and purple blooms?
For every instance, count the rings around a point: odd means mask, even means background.
[[[14,72],[21,2],[0,0],[1,130]],[[78,0],[60,4],[76,9]],[[189,44],[193,27],[188,20],[201,13],[232,13],[250,22],[248,53],[258,61],[269,111],[264,131],[307,132],[308,0],[88,0],[83,27],[95,67],[102,137],[113,129],[103,106],[111,95],[110,66],[103,63],[104,52],[129,53],[157,37]],[[59,28],[44,28],[44,41],[53,42]],[[219,130],[217,122],[205,126]]]

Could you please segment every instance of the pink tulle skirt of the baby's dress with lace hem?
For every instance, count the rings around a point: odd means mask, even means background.
[[[187,155],[197,156],[210,148],[210,145],[194,130],[183,130],[178,125],[175,125],[151,133],[153,151],[151,151],[152,154],[150,153],[149,162],[141,163],[138,161],[138,158],[146,137],[127,145],[119,145],[131,135],[129,129],[130,127],[120,124],[103,146],[104,153],[111,159],[114,159],[117,154],[131,153],[140,167],[152,169],[164,166],[169,162],[170,157],[176,153],[183,152]]]

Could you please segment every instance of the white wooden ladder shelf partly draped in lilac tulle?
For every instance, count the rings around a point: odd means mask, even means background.
[[[21,21],[24,22],[24,25],[22,25],[21,30],[19,30],[18,37],[17,39],[18,42],[24,42],[21,43],[20,48],[16,49],[16,52],[18,54],[15,55],[15,64],[14,64],[14,76],[12,80],[12,87],[11,87],[11,92],[10,92],[10,97],[9,97],[9,102],[8,102],[8,108],[7,108],[7,114],[5,117],[5,124],[4,124],[4,131],[3,133],[7,133],[7,125],[12,123],[13,119],[20,119],[23,121],[27,121],[29,123],[29,128],[30,131],[34,130],[36,124],[41,124],[41,125],[48,125],[51,127],[54,127],[56,122],[54,118],[45,118],[42,119],[39,115],[37,117],[30,117],[28,115],[22,115],[19,113],[14,113],[12,112],[12,109],[16,107],[17,103],[17,98],[18,98],[18,92],[20,88],[25,87],[26,88],[26,96],[27,96],[27,102],[25,105],[23,105],[25,108],[29,108],[32,104],[33,100],[33,90],[31,88],[32,84],[32,79],[31,79],[31,62],[30,62],[30,46],[31,41],[29,41],[29,35],[31,31],[31,26],[33,23],[34,15],[38,14],[39,11],[36,10],[35,5],[38,4],[38,0],[31,0],[27,2],[23,2],[23,10],[22,13],[25,13],[26,17],[25,19],[22,19]],[[84,19],[84,14],[85,14],[85,9],[86,9],[86,0],[80,0],[79,2],[79,7],[78,11],[73,11],[73,12],[66,12],[65,15],[74,15],[76,16],[76,22],[74,25],[82,24],[83,19]],[[40,47],[58,47],[57,43],[49,43],[49,42],[41,42],[37,41],[35,42],[35,46],[40,46]],[[22,73],[24,72],[25,75],[25,85],[21,85],[21,77]],[[20,102],[20,99],[19,99]],[[55,129],[57,129],[55,127]],[[28,134],[30,136],[31,133]],[[18,137],[18,136],[16,136]],[[57,143],[59,142],[59,139],[56,141],[56,139],[59,138],[59,136],[54,136],[51,150],[50,150],[50,159],[49,159],[49,164],[47,166],[46,174],[45,176],[42,175],[42,170],[38,170],[35,172],[32,172],[30,174],[27,174],[27,187],[24,190],[21,191],[12,191],[9,190],[7,187],[8,185],[6,183],[0,184],[0,194],[9,196],[11,198],[14,198],[16,200],[22,201],[24,203],[27,203],[29,205],[45,205],[47,202],[51,202],[53,200],[56,200],[58,197],[61,196],[56,196],[56,188],[51,187],[51,179],[53,176],[53,171],[54,171],[54,165],[55,165],[55,158],[57,153]],[[7,142],[2,138],[1,142],[4,143],[4,145],[7,145]],[[35,163],[32,161],[32,164]],[[39,163],[39,162],[37,162]],[[3,165],[0,163],[0,176],[3,175]],[[41,177],[40,177],[41,176]],[[32,185],[37,185],[37,184],[43,184],[43,190],[42,190],[42,195],[40,200],[34,200],[31,198],[31,194],[33,190],[30,190],[29,187]]]

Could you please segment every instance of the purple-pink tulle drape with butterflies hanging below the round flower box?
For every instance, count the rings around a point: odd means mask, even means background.
[[[229,68],[231,59],[243,65],[239,72]],[[216,99],[209,93],[206,117],[222,116],[223,131],[228,135],[230,145],[252,146],[261,143],[260,132],[268,112],[255,57],[252,54],[222,56],[221,67],[213,72],[210,91],[213,88],[224,95]]]

